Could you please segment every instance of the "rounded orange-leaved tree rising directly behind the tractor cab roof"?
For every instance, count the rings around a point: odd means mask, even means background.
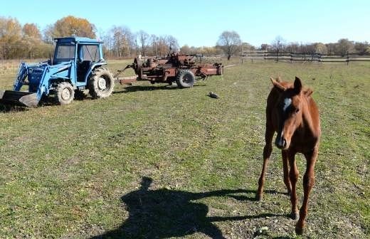
[[[56,21],[52,27],[52,37],[84,36],[95,38],[95,26],[85,18],[66,16]]]

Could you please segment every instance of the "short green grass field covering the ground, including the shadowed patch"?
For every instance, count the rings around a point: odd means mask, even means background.
[[[0,72],[1,89],[15,70]],[[321,114],[302,237],[277,148],[254,200],[270,75],[299,76]],[[117,85],[105,100],[2,112],[0,238],[369,238],[369,77],[361,63],[244,63],[190,89]]]

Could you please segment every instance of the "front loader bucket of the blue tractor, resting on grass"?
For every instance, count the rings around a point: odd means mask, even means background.
[[[14,90],[0,90],[1,104],[37,107],[38,101],[39,100],[36,93]]]

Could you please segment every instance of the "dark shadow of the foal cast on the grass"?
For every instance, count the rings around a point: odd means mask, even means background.
[[[253,216],[208,217],[208,206],[196,200],[211,196],[228,196],[240,201],[255,201],[255,191],[224,189],[191,193],[165,188],[151,190],[149,189],[151,184],[152,179],[143,177],[141,188],[122,196],[121,201],[129,213],[127,220],[119,228],[93,238],[181,238],[196,232],[208,235],[210,238],[225,238],[213,222],[286,216],[263,213]],[[253,197],[240,195],[240,193],[253,193]]]

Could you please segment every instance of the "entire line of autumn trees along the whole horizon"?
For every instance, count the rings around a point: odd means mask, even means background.
[[[125,58],[134,55],[163,56],[169,53],[219,55],[225,54],[228,60],[240,51],[280,51],[294,53],[322,53],[327,55],[359,55],[370,53],[368,42],[354,42],[346,38],[336,43],[287,43],[277,36],[268,44],[252,46],[241,41],[236,31],[223,31],[216,46],[194,47],[179,43],[174,36],[157,36],[145,31],[133,32],[126,26],[112,26],[108,31],[97,31],[95,25],[85,18],[66,16],[56,23],[46,26],[43,31],[35,23],[23,26],[16,18],[0,16],[0,60],[14,58],[48,58],[53,52],[53,38],[63,36],[84,36],[100,38],[107,58]]]

